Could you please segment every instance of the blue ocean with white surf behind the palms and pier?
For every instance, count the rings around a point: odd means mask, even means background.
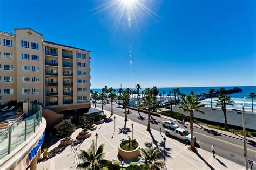
[[[227,107],[228,109],[242,109],[242,102],[244,100],[244,97],[247,97],[245,100],[245,110],[246,111],[252,111],[252,99],[248,96],[250,92],[254,92],[256,94],[256,86],[228,86],[228,87],[223,87],[226,90],[232,89],[234,87],[238,87],[242,89],[242,92],[240,93],[233,93],[228,96],[232,98],[232,100],[235,102],[234,107]],[[186,95],[190,94],[191,91],[194,92],[194,94],[200,94],[200,93],[207,93],[210,88],[213,88],[215,90],[219,89],[220,87],[180,87],[180,92],[185,93]],[[135,88],[130,88],[131,90],[136,90]],[[167,94],[169,91],[172,91],[174,87],[158,87],[159,93],[163,94],[163,91],[165,91],[165,97],[167,97]],[[93,91],[98,91],[101,92],[101,89],[92,89]],[[124,89],[123,89],[124,90]],[[143,91],[145,88],[142,88],[140,90]],[[118,89],[116,89],[116,93],[118,93]],[[171,96],[174,96],[172,93]],[[212,98],[212,105],[215,107],[215,100],[217,98]],[[256,98],[253,100],[253,108],[254,112],[256,113]],[[208,107],[211,107],[211,99],[205,99],[201,101],[202,103],[206,104]]]

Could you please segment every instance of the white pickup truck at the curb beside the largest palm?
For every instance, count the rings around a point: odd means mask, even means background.
[[[172,126],[168,126],[165,128],[166,136],[174,136],[178,139],[184,140],[186,143],[190,143],[190,132],[182,128],[173,128]],[[194,142],[196,143],[197,139],[194,137]]]

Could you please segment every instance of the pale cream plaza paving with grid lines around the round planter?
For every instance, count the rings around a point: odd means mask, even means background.
[[[110,112],[104,110],[107,118],[110,117]],[[114,119],[116,116],[116,131],[114,132]],[[128,115],[128,119],[129,119]],[[98,133],[98,146],[102,143],[105,144],[104,153],[105,159],[118,160],[118,145],[120,140],[127,139],[128,136],[132,137],[131,124],[133,123],[133,139],[136,139],[140,147],[145,148],[144,143],[146,141],[153,141],[154,146],[158,146],[162,152],[164,152],[163,138],[164,134],[160,134],[158,131],[153,130],[151,134],[146,131],[146,126],[133,122],[127,121],[126,131],[123,131],[124,117],[118,115],[112,115],[109,122],[97,125],[97,129],[92,131],[90,138],[85,139],[81,144],[76,140],[77,134],[82,129],[77,129],[73,134],[72,138],[76,145],[73,147],[79,152],[80,149],[87,150],[91,145],[92,140],[96,140],[95,134]],[[163,135],[163,136],[161,136]],[[113,136],[113,138],[111,138]],[[183,143],[178,140],[173,140],[166,137],[165,144],[165,162],[167,169],[243,169],[241,165],[236,164],[230,160],[218,156],[217,159],[212,157],[212,153],[205,150],[198,149],[198,153],[191,152],[187,149]],[[38,169],[76,169],[76,157],[71,147],[59,148],[58,141],[55,145],[49,148],[48,160],[42,160],[38,163]],[[210,147],[210,146],[209,146]],[[119,161],[119,160],[118,160]],[[129,163],[129,162],[128,162]]]

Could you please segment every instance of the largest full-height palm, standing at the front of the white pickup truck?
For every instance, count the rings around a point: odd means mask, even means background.
[[[194,146],[194,111],[200,112],[204,114],[203,111],[199,110],[200,108],[205,107],[205,104],[201,104],[198,98],[188,95],[187,99],[182,98],[182,102],[180,102],[178,109],[183,112],[190,112],[190,149],[192,151],[196,151],[196,147]]]

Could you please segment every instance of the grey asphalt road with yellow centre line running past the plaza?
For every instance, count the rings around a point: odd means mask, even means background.
[[[101,104],[97,104],[98,107],[101,108]],[[105,110],[110,110],[111,105],[106,104],[104,105]],[[120,115],[124,117],[124,109],[117,108],[116,105],[113,105],[113,112],[114,114]],[[139,119],[138,111],[130,110],[130,114],[128,114],[128,119],[131,119],[134,122],[138,122],[143,125],[147,125],[147,114],[140,112],[140,115],[144,117],[144,119]],[[151,128],[158,130],[160,132],[160,127],[163,127],[161,121],[165,121],[165,118],[152,116],[157,124],[151,120]],[[177,122],[175,122],[177,123]],[[129,124],[129,121],[127,122]],[[183,126],[177,123],[181,128],[189,130],[189,126]],[[136,127],[134,127],[136,128]],[[163,132],[164,128],[162,128]],[[163,132],[163,136],[164,136]],[[196,147],[202,148],[203,150],[211,152],[211,145],[214,143],[215,150],[217,155],[236,162],[237,164],[244,165],[244,147],[243,141],[237,138],[228,137],[223,134],[209,132],[204,129],[194,128],[194,136],[197,138]],[[176,138],[167,137],[169,140],[178,140]],[[182,142],[182,141],[180,141]],[[247,142],[247,152],[248,152],[248,159],[256,161],[256,144],[253,141]]]

